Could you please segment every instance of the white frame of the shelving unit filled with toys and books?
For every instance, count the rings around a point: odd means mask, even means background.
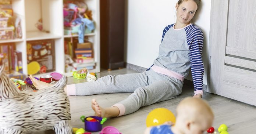
[[[64,35],[63,25],[63,0],[11,0],[14,16],[21,18],[22,39],[0,40],[0,44],[14,43],[16,49],[22,52],[22,64],[24,74],[27,70],[27,41],[53,39],[55,43],[55,67],[54,72],[65,73],[64,59],[64,39],[71,35]],[[75,0],[73,0],[75,1]],[[95,59],[95,69],[90,72],[100,72],[100,0],[84,0],[89,10],[92,10],[93,21],[95,21],[95,30],[93,33],[85,34],[93,44],[93,53]],[[47,32],[41,32],[35,26],[38,20],[42,18],[43,29]],[[78,35],[72,35],[77,37]]]

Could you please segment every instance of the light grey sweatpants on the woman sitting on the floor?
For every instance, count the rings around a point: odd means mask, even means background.
[[[124,115],[142,106],[172,99],[181,94],[183,82],[149,70],[127,75],[108,75],[93,82],[75,84],[76,95],[133,92],[118,102],[125,107]]]

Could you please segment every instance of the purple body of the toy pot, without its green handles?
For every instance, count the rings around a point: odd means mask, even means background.
[[[102,124],[100,124],[100,121],[102,121],[102,117],[98,117],[98,116],[89,116],[89,117],[99,120],[99,122],[89,122],[86,120],[88,117],[86,117],[85,130],[89,132],[97,132],[102,130]]]

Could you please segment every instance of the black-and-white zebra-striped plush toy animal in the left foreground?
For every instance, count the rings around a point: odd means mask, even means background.
[[[22,93],[0,66],[0,134],[24,134],[53,129],[56,134],[72,134],[70,102],[63,88],[63,76],[54,86]]]

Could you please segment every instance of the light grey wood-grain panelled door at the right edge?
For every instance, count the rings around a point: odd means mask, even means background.
[[[211,6],[207,91],[256,105],[256,1],[212,0]]]

